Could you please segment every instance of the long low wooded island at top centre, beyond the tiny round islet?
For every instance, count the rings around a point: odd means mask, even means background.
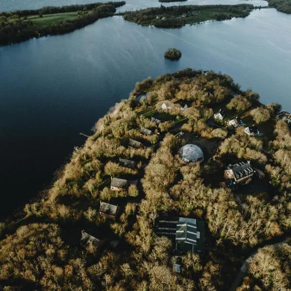
[[[124,19],[141,24],[164,28],[180,28],[185,24],[194,24],[207,20],[226,20],[232,17],[246,17],[254,9],[251,4],[238,5],[161,5],[158,8],[146,8],[126,12]]]

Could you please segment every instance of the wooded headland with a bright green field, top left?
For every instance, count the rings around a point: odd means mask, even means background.
[[[125,1],[43,7],[0,13],[0,45],[9,45],[33,37],[64,34],[113,16]]]

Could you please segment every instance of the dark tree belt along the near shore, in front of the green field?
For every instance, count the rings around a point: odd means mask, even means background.
[[[80,29],[86,25],[94,23],[99,18],[112,16],[116,11],[115,7],[124,4],[125,4],[124,1],[109,2],[106,4],[101,3],[100,5],[97,5],[93,10],[81,12],[74,19],[60,20],[59,22],[41,27],[36,26],[29,19],[8,18],[6,16],[1,16],[0,45],[17,43],[28,40],[33,37],[41,37],[46,35],[64,34],[67,32],[72,32],[76,29]],[[72,6],[75,8],[78,7],[78,5]],[[52,12],[52,10],[50,10],[50,12]]]

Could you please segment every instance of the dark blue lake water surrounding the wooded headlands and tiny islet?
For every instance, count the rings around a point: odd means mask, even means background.
[[[66,3],[35,2],[0,0],[0,9]],[[178,62],[164,59],[169,47],[182,51]],[[291,15],[256,10],[247,18],[176,30],[114,16],[65,35],[0,47],[1,214],[47,185],[84,142],[78,133],[90,133],[137,81],[186,67],[229,74],[262,102],[290,111]]]

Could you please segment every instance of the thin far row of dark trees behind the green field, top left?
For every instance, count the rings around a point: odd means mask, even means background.
[[[9,12],[0,12],[0,16],[12,17],[12,16],[31,16],[31,15],[39,15],[39,14],[54,14],[54,13],[65,13],[65,12],[76,12],[76,11],[86,11],[92,10],[100,5],[104,5],[105,3],[97,2],[97,3],[90,3],[90,4],[73,4],[73,5],[66,5],[66,6],[46,6],[40,9],[35,10],[16,10],[16,11],[9,11]],[[125,1],[120,2],[107,2],[107,5],[113,5],[114,7],[119,7],[125,4]]]

